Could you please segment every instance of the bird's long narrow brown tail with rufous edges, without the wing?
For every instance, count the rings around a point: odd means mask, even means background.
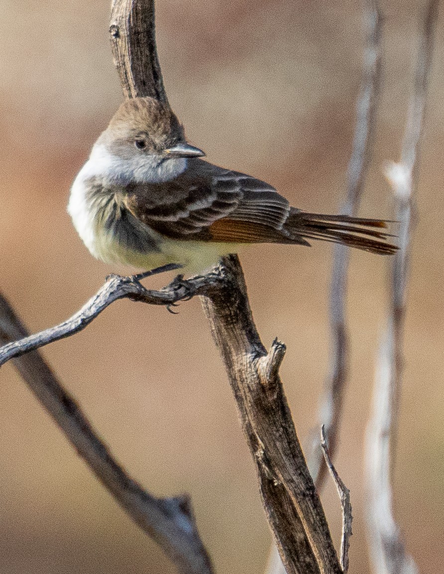
[[[310,214],[296,209],[292,209],[284,225],[285,231],[304,240],[321,239],[370,253],[392,255],[397,247],[387,243],[387,238],[392,235],[381,231],[386,227],[387,222],[380,219]]]

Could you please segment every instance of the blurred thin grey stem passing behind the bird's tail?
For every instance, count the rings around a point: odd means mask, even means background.
[[[357,215],[373,149],[373,131],[376,124],[382,68],[381,16],[377,0],[364,0],[363,22],[366,32],[364,68],[356,106],[352,156],[348,166],[348,191],[341,210],[343,214],[348,215]],[[330,285],[331,364],[319,411],[320,423],[325,426],[331,457],[334,457],[337,446],[349,362],[345,314],[349,261],[349,250],[335,245]],[[326,466],[317,434],[309,468],[316,487],[320,490],[325,480]]]

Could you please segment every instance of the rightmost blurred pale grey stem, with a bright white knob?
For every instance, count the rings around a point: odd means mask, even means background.
[[[395,219],[399,221],[399,251],[391,266],[391,304],[387,328],[380,344],[379,366],[373,394],[373,414],[366,437],[369,491],[368,534],[377,574],[414,574],[414,561],[406,553],[393,518],[391,474],[395,460],[397,420],[403,375],[403,332],[406,288],[410,263],[414,179],[418,143],[426,105],[428,76],[434,46],[438,0],[428,2],[420,30],[414,91],[404,132],[401,160],[391,164],[387,176],[395,195]]]

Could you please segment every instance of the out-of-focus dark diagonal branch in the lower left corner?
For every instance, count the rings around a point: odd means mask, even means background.
[[[114,278],[107,285],[116,282]],[[0,342],[14,339],[26,341],[30,337],[9,303],[0,295]],[[12,350],[22,348],[20,344],[7,344],[6,347]],[[37,347],[28,346],[27,350],[31,348]],[[18,352],[10,355],[2,352],[3,362],[7,360],[5,356],[15,357],[14,364],[30,390],[60,426],[79,455],[123,510],[173,560],[179,572],[212,574],[211,561],[200,541],[188,496],[156,498],[130,478],[37,351],[20,358]]]

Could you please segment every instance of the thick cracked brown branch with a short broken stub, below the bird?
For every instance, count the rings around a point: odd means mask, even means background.
[[[342,572],[279,379],[285,347],[267,353],[254,325],[238,258],[203,306],[254,456],[262,501],[288,574]]]

